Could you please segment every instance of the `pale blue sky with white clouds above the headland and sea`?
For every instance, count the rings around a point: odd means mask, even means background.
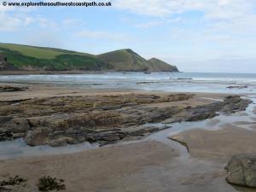
[[[256,73],[256,0],[110,0],[111,7],[87,8],[2,2],[2,43],[91,54],[129,48],[183,72]]]

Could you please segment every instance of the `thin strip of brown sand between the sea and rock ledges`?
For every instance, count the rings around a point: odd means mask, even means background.
[[[72,85],[58,85],[58,84],[27,84],[27,83],[1,83],[0,86],[17,86],[27,87],[26,91],[15,91],[15,92],[0,92],[0,101],[12,101],[20,99],[31,99],[31,98],[45,98],[55,96],[96,96],[96,95],[125,95],[125,94],[156,94],[160,96],[168,94],[195,94],[201,96],[203,100],[223,99],[224,96],[247,96],[249,93],[209,93],[209,92],[193,92],[193,91],[160,91],[160,90],[132,90],[132,89],[108,89],[108,88],[90,88],[90,87],[76,87]]]

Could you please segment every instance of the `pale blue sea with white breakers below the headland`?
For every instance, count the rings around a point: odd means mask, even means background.
[[[58,84],[88,89],[256,93],[256,73],[101,73],[0,76],[0,83],[8,82]]]

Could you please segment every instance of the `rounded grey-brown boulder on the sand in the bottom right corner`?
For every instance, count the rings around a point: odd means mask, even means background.
[[[256,154],[234,155],[225,169],[228,183],[256,188]]]

